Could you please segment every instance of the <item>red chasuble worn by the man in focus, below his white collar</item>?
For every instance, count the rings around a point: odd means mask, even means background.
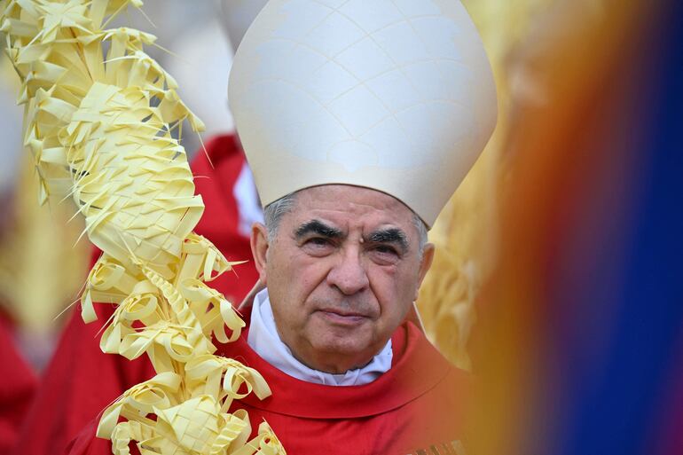
[[[420,329],[405,323],[392,337],[389,372],[363,386],[325,386],[280,372],[247,345],[247,333],[218,353],[263,374],[272,395],[249,395],[254,431],[267,420],[291,455],[465,455],[461,427],[470,377],[453,367]],[[106,455],[111,443],[95,437],[97,422],[75,440],[69,455]]]

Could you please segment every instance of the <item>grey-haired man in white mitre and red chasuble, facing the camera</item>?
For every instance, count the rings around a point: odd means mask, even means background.
[[[218,352],[272,390],[233,408],[295,455],[464,454],[467,375],[408,320],[434,255],[427,229],[495,124],[464,7],[271,0],[229,98],[265,223],[251,232],[247,333]],[[73,453],[98,452],[90,440]]]

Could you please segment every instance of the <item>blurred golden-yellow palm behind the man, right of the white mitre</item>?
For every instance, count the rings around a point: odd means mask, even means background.
[[[496,213],[500,185],[506,176],[504,150],[512,101],[540,96],[523,67],[515,65],[515,58],[523,48],[534,45],[529,38],[538,26],[538,17],[560,3],[463,1],[491,60],[498,89],[499,121],[482,156],[429,232],[436,255],[417,304],[428,338],[454,365],[465,370],[472,367],[467,341],[476,321],[478,290],[490,275],[498,251]]]

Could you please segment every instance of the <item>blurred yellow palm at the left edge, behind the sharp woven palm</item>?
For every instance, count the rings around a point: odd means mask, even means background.
[[[0,67],[3,84],[18,93],[20,81],[9,59],[2,59]],[[20,131],[16,134],[19,137]],[[14,170],[15,185],[5,194],[2,208],[0,304],[23,337],[51,336],[59,331],[55,318],[77,298],[85,280],[90,243],[87,239],[76,243],[83,230],[81,218],[67,223],[75,213],[71,199],[38,205],[33,156],[27,151],[16,153],[20,160]]]

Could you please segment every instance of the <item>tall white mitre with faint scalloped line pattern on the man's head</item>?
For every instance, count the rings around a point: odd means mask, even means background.
[[[457,0],[271,0],[239,45],[229,90],[263,206],[353,184],[428,226],[497,114],[489,61]]]

